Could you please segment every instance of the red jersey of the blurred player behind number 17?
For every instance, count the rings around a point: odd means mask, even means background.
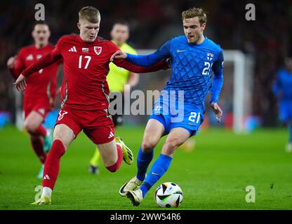
[[[49,43],[44,48],[36,48],[34,45],[21,48],[16,58],[15,66],[10,69],[11,74],[16,79],[20,73],[26,69],[37,59],[44,56],[47,52],[51,52],[55,48]],[[50,108],[55,100],[56,89],[56,73],[59,63],[48,66],[46,69],[41,69],[32,73],[32,76],[27,78],[27,87],[25,88],[23,104],[46,104]]]

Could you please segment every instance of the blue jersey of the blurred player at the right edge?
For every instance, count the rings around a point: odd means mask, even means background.
[[[275,95],[281,95],[281,101],[292,101],[292,73],[286,69],[280,69],[277,80],[273,85]]]

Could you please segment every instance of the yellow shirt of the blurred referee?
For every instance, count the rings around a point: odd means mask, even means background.
[[[132,55],[137,55],[137,52],[127,43],[123,43],[119,47],[122,51]],[[124,84],[128,82],[130,71],[118,67],[114,63],[110,63],[110,72],[107,74],[107,83],[110,87],[110,92],[124,92]]]

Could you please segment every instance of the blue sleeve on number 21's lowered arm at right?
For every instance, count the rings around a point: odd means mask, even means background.
[[[220,50],[217,60],[213,64],[213,83],[211,87],[211,101],[210,103],[217,103],[223,85],[223,50]]]

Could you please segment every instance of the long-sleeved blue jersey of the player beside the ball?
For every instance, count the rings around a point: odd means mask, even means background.
[[[185,36],[172,38],[150,55],[127,54],[127,60],[140,66],[150,66],[171,57],[171,78],[164,90],[184,91],[184,103],[204,111],[206,94],[211,91],[211,102],[218,102],[223,85],[223,50],[205,36],[200,44],[188,43]],[[214,73],[212,83],[212,72]]]

